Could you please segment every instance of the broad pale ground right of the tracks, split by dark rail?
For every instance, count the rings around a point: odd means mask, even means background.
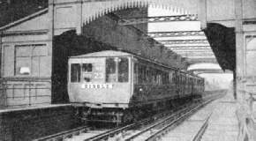
[[[201,141],[236,141],[239,131],[236,109],[237,103],[232,97],[232,92],[228,92],[222,98],[212,101],[191,115],[177,128],[162,137],[162,140],[191,141],[207,116],[212,113]]]

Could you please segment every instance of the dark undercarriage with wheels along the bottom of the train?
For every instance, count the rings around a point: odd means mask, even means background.
[[[137,122],[141,119],[161,113],[167,109],[176,110],[186,103],[200,100],[200,95],[191,95],[172,100],[158,100],[145,105],[139,105],[132,108],[89,108],[78,107],[79,119],[87,124],[96,125],[97,123],[124,125],[131,122]]]

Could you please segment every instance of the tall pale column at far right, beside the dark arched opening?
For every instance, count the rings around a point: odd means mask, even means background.
[[[243,32],[243,0],[235,0],[236,10],[236,81],[237,85],[235,91],[237,91],[237,101],[241,104],[245,101],[245,95],[240,90],[244,90],[243,78],[245,76],[245,52],[244,52],[244,32]]]

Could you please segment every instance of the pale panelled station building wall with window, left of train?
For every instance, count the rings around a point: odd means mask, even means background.
[[[45,12],[1,32],[0,108],[51,103],[51,52]]]

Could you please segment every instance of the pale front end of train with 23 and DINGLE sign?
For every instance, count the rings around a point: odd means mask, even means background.
[[[87,120],[117,121],[116,117],[122,115],[119,111],[128,108],[132,88],[128,55],[103,51],[69,59],[69,98],[77,107],[86,109],[87,115],[83,116]]]

